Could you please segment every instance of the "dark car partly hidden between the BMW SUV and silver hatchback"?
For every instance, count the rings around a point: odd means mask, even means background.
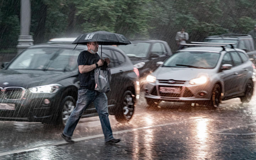
[[[157,69],[157,62],[165,61],[172,55],[172,50],[165,41],[137,40],[118,47],[131,59],[134,67],[139,70],[140,77],[146,77]]]

